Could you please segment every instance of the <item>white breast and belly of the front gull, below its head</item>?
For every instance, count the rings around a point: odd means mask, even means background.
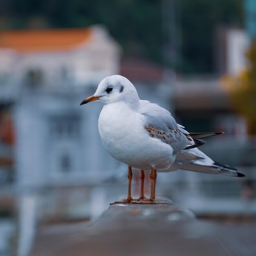
[[[151,138],[144,128],[143,116],[126,103],[107,104],[99,116],[99,134],[103,146],[115,159],[141,169],[169,168],[173,149]]]

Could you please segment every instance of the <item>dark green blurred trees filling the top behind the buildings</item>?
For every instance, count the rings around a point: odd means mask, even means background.
[[[168,10],[164,9],[167,2]],[[242,0],[0,0],[0,28],[86,27],[102,23],[125,55],[164,63],[163,45],[177,31],[176,68],[214,72],[214,33],[220,24],[241,25]],[[163,10],[164,9],[164,10]],[[173,16],[173,26],[163,26]],[[181,43],[182,42],[182,43]],[[167,63],[168,64],[168,63]],[[170,65],[170,63],[169,63]]]

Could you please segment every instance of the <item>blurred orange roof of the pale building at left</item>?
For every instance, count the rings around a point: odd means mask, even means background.
[[[66,50],[88,42],[91,36],[91,28],[2,31],[0,48],[20,53]]]

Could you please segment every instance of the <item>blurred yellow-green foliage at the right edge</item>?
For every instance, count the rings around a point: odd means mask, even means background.
[[[248,134],[256,135],[256,40],[246,53],[248,66],[238,76],[222,79],[234,109],[247,121]]]

